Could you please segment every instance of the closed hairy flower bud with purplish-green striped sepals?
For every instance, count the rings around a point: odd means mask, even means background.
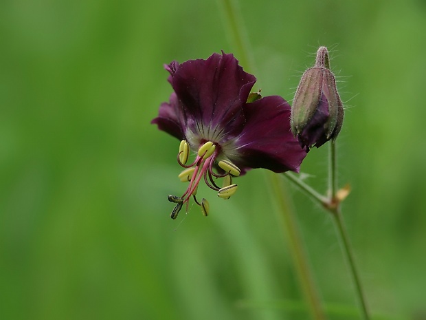
[[[291,109],[291,131],[306,151],[337,138],[344,109],[337,92],[335,76],[330,72],[328,50],[320,47],[315,65],[300,79]]]

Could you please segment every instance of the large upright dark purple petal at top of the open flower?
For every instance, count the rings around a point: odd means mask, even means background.
[[[170,65],[170,70],[174,67]],[[232,54],[186,61],[170,73],[192,131],[209,138],[233,138],[241,131],[242,107],[256,78],[244,72]]]

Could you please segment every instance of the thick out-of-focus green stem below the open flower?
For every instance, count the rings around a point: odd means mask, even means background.
[[[293,207],[287,189],[282,184],[282,180],[276,173],[269,173],[269,181],[274,193],[274,199],[277,200],[280,213],[280,222],[284,233],[288,237],[289,248],[293,255],[296,270],[302,285],[304,295],[309,302],[311,313],[314,319],[326,319],[317,290],[313,284],[309,263],[306,259],[306,253],[302,246],[302,239],[298,231],[298,226],[293,214]]]

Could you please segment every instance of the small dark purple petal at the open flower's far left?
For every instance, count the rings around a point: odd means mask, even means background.
[[[170,103],[161,103],[158,116],[151,123],[158,125],[158,129],[166,131],[179,140],[185,137],[185,122],[175,92],[170,96]]]

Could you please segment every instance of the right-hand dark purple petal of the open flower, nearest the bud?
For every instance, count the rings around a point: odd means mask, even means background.
[[[298,172],[306,152],[291,134],[290,114],[290,105],[280,96],[248,103],[247,123],[235,142],[236,150],[227,156],[243,172],[249,168]]]

